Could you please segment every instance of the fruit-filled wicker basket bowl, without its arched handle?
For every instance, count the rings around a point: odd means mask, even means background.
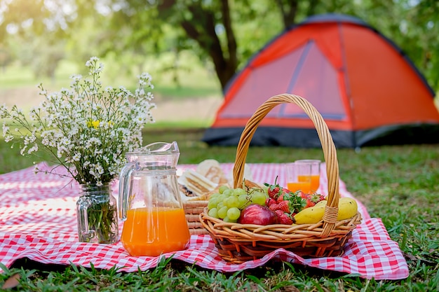
[[[305,258],[340,256],[360,223],[358,204],[351,197],[339,198],[328,235],[323,233],[326,209],[332,209],[327,197],[318,193],[243,181],[240,188],[221,186],[212,193],[199,220],[219,256],[232,263],[262,258],[279,248]]]

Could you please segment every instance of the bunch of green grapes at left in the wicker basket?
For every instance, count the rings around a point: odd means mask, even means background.
[[[236,222],[241,211],[249,204],[265,206],[269,197],[268,190],[264,188],[229,188],[219,186],[216,193],[210,195],[208,200],[208,215],[222,219],[224,222]]]

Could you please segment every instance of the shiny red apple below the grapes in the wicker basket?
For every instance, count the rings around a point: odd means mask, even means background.
[[[261,206],[260,204],[250,204],[241,211],[238,223],[257,225],[277,224],[279,223],[279,217],[269,207]]]

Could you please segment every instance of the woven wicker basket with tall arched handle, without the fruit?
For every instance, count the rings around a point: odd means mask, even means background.
[[[278,248],[293,251],[304,258],[340,256],[352,230],[361,221],[359,213],[353,218],[337,221],[340,195],[335,145],[320,113],[306,99],[297,95],[283,94],[269,98],[248,120],[236,150],[234,188],[242,185],[245,158],[257,125],[274,106],[285,103],[297,104],[305,111],[313,121],[322,145],[327,172],[327,206],[323,220],[302,225],[244,225],[212,218],[208,216],[206,207],[199,215],[199,220],[215,242],[219,256],[231,263],[262,258]]]

